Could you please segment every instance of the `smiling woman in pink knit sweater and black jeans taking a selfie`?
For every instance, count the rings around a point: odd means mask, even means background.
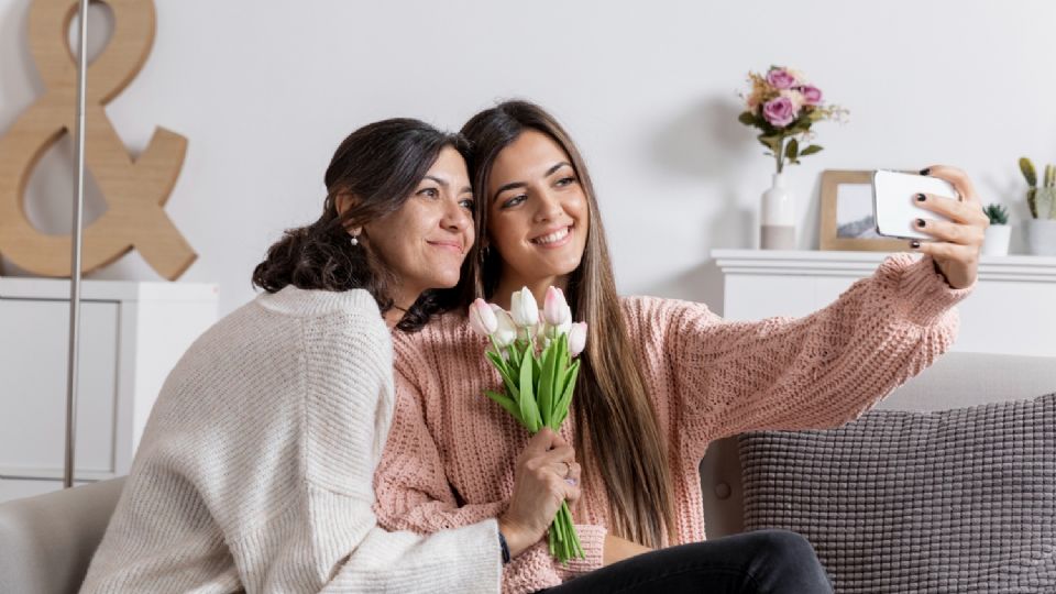
[[[561,287],[590,329],[561,430],[583,464],[573,516],[586,559],[562,566],[535,544],[506,565],[504,590],[828,591],[796,535],[700,542],[700,461],[726,436],[854,419],[949,346],[986,226],[968,178],[949,167],[922,172],[952,182],[966,201],[923,197],[956,222],[919,224],[937,239],[912,244],[925,254],[920,261],[893,255],[805,318],[730,322],[700,304],[616,295],[586,166],[542,109],[503,103],[463,134],[473,143],[481,239],[462,283],[507,308],[521,286],[539,302],[548,286]],[[388,528],[480,521],[502,514],[516,492],[514,459],[528,438],[483,396],[501,380],[468,328],[466,305],[395,338],[397,413],[375,475],[378,521]],[[519,543],[519,527],[510,530],[507,540]],[[529,531],[526,540],[535,538]],[[634,557],[673,544],[685,546]]]

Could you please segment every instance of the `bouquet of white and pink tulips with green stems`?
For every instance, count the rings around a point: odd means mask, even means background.
[[[510,311],[476,299],[470,327],[492,342],[485,355],[503,377],[505,394],[485,391],[529,432],[557,432],[569,416],[580,362],[586,345],[586,322],[572,322],[572,310],[559,288],[547,289],[542,311],[527,287],[514,293]],[[562,563],[583,558],[583,547],[568,503],[561,504],[549,530],[550,554]]]

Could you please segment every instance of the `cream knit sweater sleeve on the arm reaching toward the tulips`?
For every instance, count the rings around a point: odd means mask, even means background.
[[[304,332],[298,481],[272,517],[226,535],[246,592],[497,592],[494,520],[427,537],[377,526],[372,476],[393,406],[387,332],[309,322]],[[243,493],[253,497],[253,485]]]

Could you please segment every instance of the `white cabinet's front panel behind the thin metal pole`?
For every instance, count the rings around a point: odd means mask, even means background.
[[[91,474],[113,472],[119,310],[81,304],[76,464]],[[62,477],[68,320],[68,302],[0,299],[0,475]]]

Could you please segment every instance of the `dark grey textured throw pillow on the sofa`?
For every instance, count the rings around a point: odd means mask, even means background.
[[[1056,593],[1056,394],[739,447],[745,529],[807,537],[838,593]]]

